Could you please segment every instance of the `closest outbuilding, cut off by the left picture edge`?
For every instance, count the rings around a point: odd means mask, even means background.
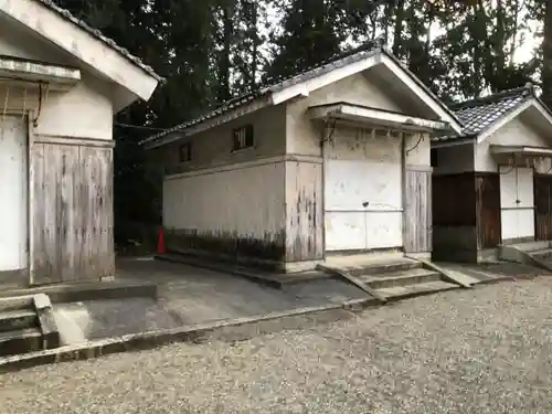
[[[50,0],[0,1],[0,287],[114,275],[113,116],[160,79]]]

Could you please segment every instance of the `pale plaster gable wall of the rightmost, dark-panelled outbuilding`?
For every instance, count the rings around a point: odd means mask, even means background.
[[[522,117],[517,117],[498,129],[485,141],[477,145],[475,155],[477,171],[498,171],[498,164],[489,151],[489,146],[493,144],[505,146],[550,146],[550,142],[546,142],[538,131],[531,128],[527,123],[523,123]],[[548,170],[550,163],[542,163],[539,168],[541,170]]]

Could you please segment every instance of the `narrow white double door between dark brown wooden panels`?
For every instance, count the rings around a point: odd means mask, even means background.
[[[500,167],[502,241],[534,237],[533,169]]]

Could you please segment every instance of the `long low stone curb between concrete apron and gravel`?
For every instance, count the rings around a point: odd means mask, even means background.
[[[0,358],[0,373],[28,369],[56,362],[79,361],[110,353],[153,349],[173,342],[203,342],[206,340],[237,341],[254,336],[304,328],[305,322],[314,325],[331,322],[352,317],[370,306],[374,299],[354,299],[342,304],[304,307],[263,316],[244,317],[208,323],[183,326],[149,332],[130,333],[115,338],[88,341],[74,346]]]

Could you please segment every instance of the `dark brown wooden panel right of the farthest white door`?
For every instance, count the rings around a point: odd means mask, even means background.
[[[534,238],[552,240],[552,176],[534,174]]]

